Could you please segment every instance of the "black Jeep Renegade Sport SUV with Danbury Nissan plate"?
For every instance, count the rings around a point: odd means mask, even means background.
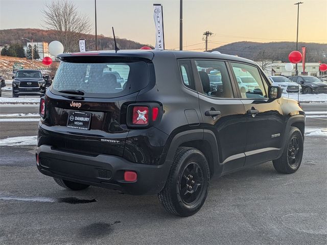
[[[62,187],[158,194],[167,211],[189,216],[214,174],[270,160],[280,173],[300,166],[305,113],[250,60],[154,50],[58,58],[40,102],[36,164]],[[253,78],[243,92],[242,76]]]

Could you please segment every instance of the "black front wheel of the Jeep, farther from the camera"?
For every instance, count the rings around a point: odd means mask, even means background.
[[[285,144],[283,155],[272,163],[278,173],[293,174],[301,165],[303,156],[303,136],[296,127],[291,127]]]

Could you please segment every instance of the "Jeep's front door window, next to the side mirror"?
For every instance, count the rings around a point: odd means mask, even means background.
[[[259,69],[252,65],[231,63],[242,98],[266,98],[265,82]]]

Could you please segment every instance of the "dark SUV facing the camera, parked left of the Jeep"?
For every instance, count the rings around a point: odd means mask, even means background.
[[[45,81],[39,70],[17,70],[12,77],[12,96],[45,94]]]

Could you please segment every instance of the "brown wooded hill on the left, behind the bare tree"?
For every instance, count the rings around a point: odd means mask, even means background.
[[[8,29],[0,30],[0,45],[11,44],[11,43],[21,43],[26,45],[26,40],[22,40],[21,37],[28,39],[33,39],[33,41],[45,41],[51,42],[53,40],[58,40],[56,32],[52,30],[42,30],[42,29]],[[86,39],[87,50],[95,50],[95,36],[94,35],[81,35],[81,38]],[[132,40],[127,40],[123,38],[117,38],[117,44],[119,48],[127,49],[138,49],[144,45],[139,42]],[[78,43],[78,40],[76,40]],[[151,45],[150,45],[151,46]],[[105,37],[103,35],[98,35],[98,50],[113,50],[114,43],[113,38]]]

